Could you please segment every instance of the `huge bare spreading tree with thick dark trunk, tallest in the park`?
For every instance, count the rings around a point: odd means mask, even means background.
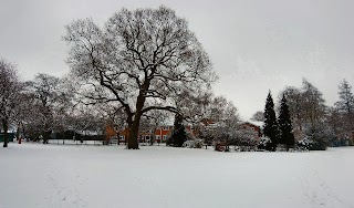
[[[166,7],[123,9],[103,28],[91,19],[66,25],[69,64],[86,103],[113,102],[126,114],[128,148],[137,149],[142,116],[180,113],[175,98],[209,91],[216,75],[185,19]]]

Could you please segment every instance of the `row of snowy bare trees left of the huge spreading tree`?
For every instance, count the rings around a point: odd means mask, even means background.
[[[4,59],[0,61],[0,129],[4,133],[4,147],[9,128],[17,132],[17,137],[37,139],[41,135],[44,143],[53,132],[103,129],[104,114],[75,102],[65,79],[40,73],[23,82],[14,64]]]

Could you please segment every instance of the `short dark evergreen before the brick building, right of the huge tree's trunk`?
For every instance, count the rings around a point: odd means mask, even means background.
[[[175,115],[174,131],[169,139],[170,145],[175,147],[181,147],[181,145],[187,141],[186,129],[183,124],[183,116],[179,114]]]

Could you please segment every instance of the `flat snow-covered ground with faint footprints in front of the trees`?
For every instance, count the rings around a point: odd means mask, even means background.
[[[0,148],[0,208],[354,207],[353,190],[353,147],[218,153],[10,143]]]

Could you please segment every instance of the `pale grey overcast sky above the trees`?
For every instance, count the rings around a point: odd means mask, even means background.
[[[353,0],[0,0],[0,56],[23,79],[62,75],[64,25],[91,17],[105,22],[123,7],[170,7],[189,22],[210,55],[222,94],[248,119],[263,111],[268,91],[301,86],[306,77],[327,105],[337,85],[354,85]]]

